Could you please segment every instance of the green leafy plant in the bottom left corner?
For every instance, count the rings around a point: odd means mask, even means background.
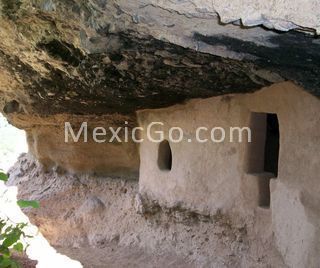
[[[0,180],[6,182],[7,174],[0,171]],[[21,208],[33,207],[38,208],[37,201],[19,200],[18,206]],[[8,217],[0,218],[0,268],[19,268],[20,265],[12,258],[12,252],[24,253],[27,246],[24,246],[25,238],[32,238],[24,232],[27,223],[14,223]]]

